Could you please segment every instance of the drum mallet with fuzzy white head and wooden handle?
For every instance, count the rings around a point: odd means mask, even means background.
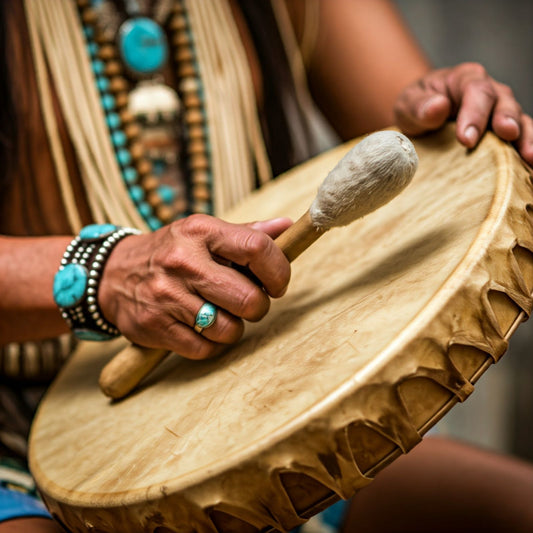
[[[418,156],[396,131],[380,131],[356,144],[327,175],[309,210],[276,240],[293,261],[330,228],[346,226],[392,200],[411,181]],[[170,352],[130,345],[102,370],[100,388],[110,398],[126,396]]]

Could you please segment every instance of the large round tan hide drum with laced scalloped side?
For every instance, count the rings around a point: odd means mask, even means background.
[[[350,146],[225,218],[298,218]],[[62,521],[289,529],[353,495],[472,392],[531,306],[530,178],[490,134],[472,152],[451,127],[415,147],[407,189],[305,251],[287,294],[222,357],[173,355],[113,403],[98,376],[123,344],[75,354],[31,437],[32,472]]]

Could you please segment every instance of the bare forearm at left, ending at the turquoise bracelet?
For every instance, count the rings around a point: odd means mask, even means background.
[[[72,237],[0,237],[0,345],[68,331],[52,286]]]

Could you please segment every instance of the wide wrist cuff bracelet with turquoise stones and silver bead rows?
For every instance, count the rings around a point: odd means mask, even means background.
[[[120,335],[100,310],[98,287],[113,248],[124,237],[140,233],[113,224],[91,224],[67,246],[54,278],[54,301],[78,338],[104,341]]]

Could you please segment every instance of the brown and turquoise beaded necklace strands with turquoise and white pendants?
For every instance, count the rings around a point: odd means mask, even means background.
[[[120,26],[118,49],[116,28],[105,31],[99,24],[98,9],[105,4],[77,0],[77,5],[110,138],[137,210],[151,229],[191,212],[212,214],[202,80],[182,0],[172,2],[164,21],[179,80],[177,95],[159,79],[136,86],[128,80],[131,71],[140,71],[143,78],[164,62],[166,43],[156,42],[148,50],[142,46],[143,39],[148,44],[165,39],[155,21],[130,13]],[[180,173],[188,183],[179,182]]]

